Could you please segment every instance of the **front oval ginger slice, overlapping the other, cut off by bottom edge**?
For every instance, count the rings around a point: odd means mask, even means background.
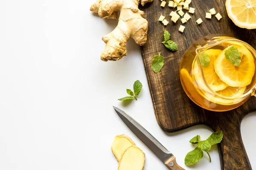
[[[137,146],[131,146],[123,153],[118,170],[143,170],[145,154]]]

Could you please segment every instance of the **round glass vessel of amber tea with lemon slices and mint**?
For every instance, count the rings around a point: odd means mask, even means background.
[[[256,51],[246,42],[209,35],[194,42],[180,64],[187,96],[210,111],[229,111],[256,96]]]

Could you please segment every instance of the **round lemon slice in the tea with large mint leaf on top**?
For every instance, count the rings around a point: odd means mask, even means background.
[[[228,47],[229,48],[229,47]],[[225,48],[214,62],[215,72],[218,77],[231,87],[245,87],[250,85],[255,73],[254,58],[249,50],[237,46],[241,54],[239,67],[233,65],[225,57]]]

